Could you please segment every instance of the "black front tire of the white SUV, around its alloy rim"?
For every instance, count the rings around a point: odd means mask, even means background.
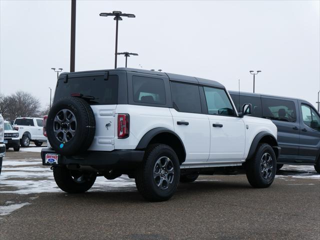
[[[270,176],[264,178],[261,172],[261,158],[264,153],[269,154],[272,159],[272,168],[270,170]],[[245,174],[246,177],[253,187],[268,187],[274,180],[276,172],[276,156],[272,147],[267,143],[258,144],[253,157],[245,163]]]

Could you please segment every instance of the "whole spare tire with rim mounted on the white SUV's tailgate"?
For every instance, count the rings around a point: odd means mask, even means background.
[[[51,147],[62,155],[85,151],[95,134],[95,118],[90,105],[79,97],[63,97],[54,103],[46,120]]]

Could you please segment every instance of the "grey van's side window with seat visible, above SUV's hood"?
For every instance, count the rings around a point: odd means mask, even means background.
[[[278,121],[296,121],[293,101],[262,97],[262,117]]]

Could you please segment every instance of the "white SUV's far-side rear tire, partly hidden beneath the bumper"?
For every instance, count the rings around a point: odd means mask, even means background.
[[[78,174],[82,174],[79,171],[73,171]],[[67,169],[65,166],[53,167],[53,177],[58,187],[68,193],[82,193],[87,191],[93,185],[96,175],[94,172],[87,173],[83,179],[83,182],[76,182],[72,178],[72,170]],[[73,174],[74,175],[74,174]]]

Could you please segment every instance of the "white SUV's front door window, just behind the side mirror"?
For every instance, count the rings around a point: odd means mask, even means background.
[[[232,104],[223,89],[203,87],[208,114],[234,116]]]

